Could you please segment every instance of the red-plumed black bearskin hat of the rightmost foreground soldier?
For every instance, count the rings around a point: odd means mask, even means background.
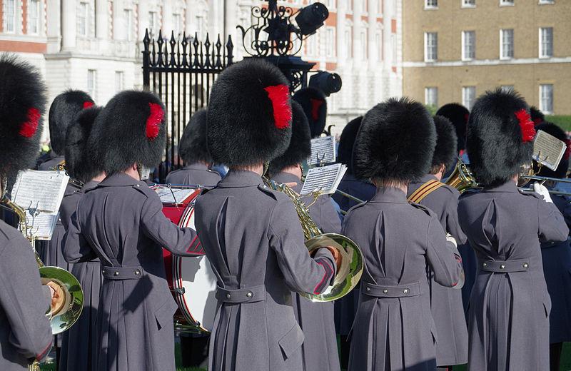
[[[531,162],[535,129],[527,103],[515,91],[487,91],[477,98],[466,149],[470,168],[483,186],[510,181]]]

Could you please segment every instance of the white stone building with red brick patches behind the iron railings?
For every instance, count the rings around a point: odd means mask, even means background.
[[[298,9],[313,0],[279,1]],[[340,133],[351,118],[402,91],[401,0],[323,0],[330,16],[305,41],[301,55],[315,69],[337,72],[343,88],[328,99]],[[0,0],[0,51],[20,54],[46,78],[49,100],[68,88],[105,104],[116,92],[141,88],[142,42],[151,37],[233,36],[249,26],[263,0]],[[221,37],[222,39],[222,37]],[[47,135],[47,133],[46,133]]]

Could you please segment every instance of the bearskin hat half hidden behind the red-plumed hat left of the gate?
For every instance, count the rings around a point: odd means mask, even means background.
[[[102,109],[102,107],[93,106],[79,111],[74,122],[67,127],[66,172],[71,178],[83,183],[87,183],[103,173],[103,169],[98,168],[96,162],[89,156],[87,147],[91,129]]]

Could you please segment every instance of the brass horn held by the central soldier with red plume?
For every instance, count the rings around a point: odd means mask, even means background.
[[[309,253],[323,246],[331,246],[338,250],[341,255],[341,265],[333,279],[333,285],[330,285],[320,294],[301,293],[300,295],[313,302],[329,302],[343,298],[350,290],[355,288],[363,274],[363,253],[361,253],[358,245],[344,235],[322,233],[311,219],[309,210],[298,193],[295,193],[288,185],[268,181],[267,178],[264,178],[264,181],[273,190],[285,193],[292,200],[298,213],[303,235],[305,236],[305,246],[308,248]]]

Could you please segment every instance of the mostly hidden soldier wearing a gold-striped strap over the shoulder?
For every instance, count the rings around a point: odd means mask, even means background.
[[[466,235],[458,223],[458,197],[460,192],[441,183],[443,173],[453,166],[456,158],[456,133],[448,118],[434,116],[436,147],[430,173],[410,182],[408,198],[416,200],[433,210],[444,230],[455,238],[458,244],[466,242]],[[438,332],[436,344],[436,365],[439,369],[452,370],[453,365],[468,362],[468,328],[462,303],[462,291],[446,288],[434,280],[433,271],[428,268],[430,309]]]

